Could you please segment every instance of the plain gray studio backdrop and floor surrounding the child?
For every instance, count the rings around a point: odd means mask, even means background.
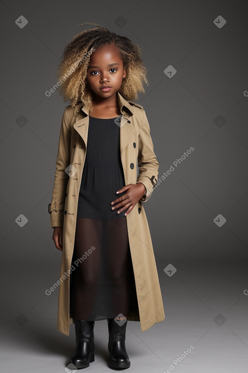
[[[1,370],[64,371],[75,348],[74,325],[69,337],[56,329],[58,289],[45,294],[60,276],[47,208],[69,104],[45,91],[67,42],[90,21],[143,50],[150,84],[137,103],[166,175],[144,204],[165,320],[144,333],[128,322],[129,370],[246,372],[247,1],[4,0],[0,8]],[[95,328],[88,369],[109,371],[107,323]]]

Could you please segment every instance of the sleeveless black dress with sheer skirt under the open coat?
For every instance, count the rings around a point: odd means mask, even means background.
[[[103,320],[138,314],[126,216],[111,202],[125,185],[120,118],[89,116],[70,275],[70,316]]]

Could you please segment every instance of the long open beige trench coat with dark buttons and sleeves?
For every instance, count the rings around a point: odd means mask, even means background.
[[[144,196],[126,216],[139,313],[139,315],[130,315],[128,320],[140,321],[141,331],[145,331],[165,319],[153,245],[143,204],[149,200],[156,185],[159,163],[153,151],[145,110],[141,105],[126,101],[119,92],[117,96],[122,114],[119,122],[120,156],[125,185],[142,182],[146,187]],[[75,108],[67,106],[64,109],[52,201],[48,207],[51,227],[63,227],[61,272],[57,282],[59,286],[57,329],[67,336],[69,324],[74,323],[73,316],[69,314],[69,273],[71,273],[74,250],[88,127],[89,111],[83,103]]]

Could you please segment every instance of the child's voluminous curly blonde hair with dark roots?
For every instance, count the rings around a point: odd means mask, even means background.
[[[137,100],[137,92],[145,92],[143,81],[149,84],[146,77],[147,69],[141,58],[139,46],[133,44],[127,37],[111,33],[110,30],[97,23],[84,23],[95,24],[99,27],[84,30],[75,35],[65,47],[57,72],[60,82],[59,94],[63,95],[64,101],[70,100],[71,107],[83,102],[89,111],[92,111],[92,90],[86,80],[89,57],[97,48],[114,44],[119,49],[123,67],[127,72],[119,92],[125,100]]]

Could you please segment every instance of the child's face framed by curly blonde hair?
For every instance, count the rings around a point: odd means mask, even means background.
[[[90,56],[87,81],[92,89],[93,99],[109,99],[116,95],[126,77],[123,61],[116,46],[102,46]],[[102,90],[103,86],[110,89]]]

